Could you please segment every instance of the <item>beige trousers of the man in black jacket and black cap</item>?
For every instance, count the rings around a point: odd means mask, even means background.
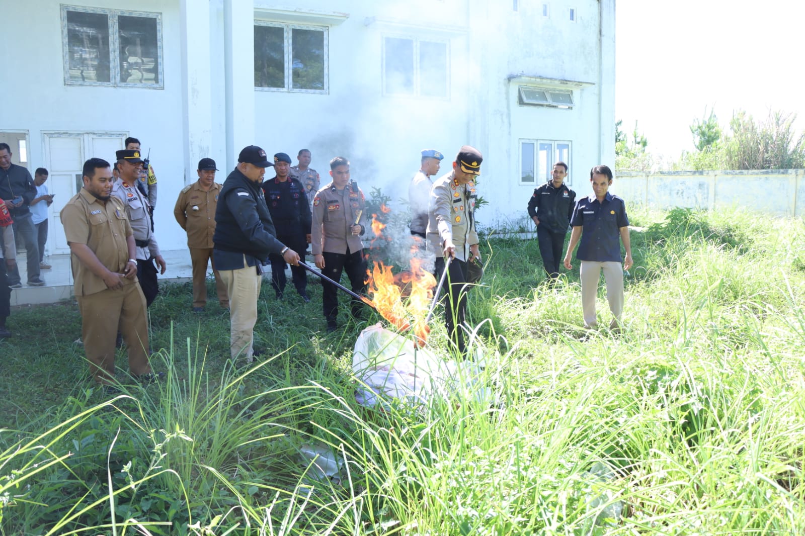
[[[243,266],[238,270],[220,270],[218,273],[229,295],[229,353],[232,359],[240,356],[251,361],[262,275],[257,273],[254,266],[246,266],[245,257]]]

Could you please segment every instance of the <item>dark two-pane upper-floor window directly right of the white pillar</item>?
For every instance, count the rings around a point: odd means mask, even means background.
[[[327,28],[256,22],[254,87],[327,93]]]

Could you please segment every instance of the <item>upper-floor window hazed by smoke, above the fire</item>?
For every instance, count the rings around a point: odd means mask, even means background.
[[[448,43],[383,39],[383,94],[448,97]]]

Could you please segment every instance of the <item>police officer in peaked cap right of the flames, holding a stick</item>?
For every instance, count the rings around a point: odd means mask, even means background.
[[[452,171],[436,179],[431,188],[427,240],[436,252],[436,279],[440,279],[448,258],[448,276],[443,290],[448,296],[444,307],[448,336],[462,355],[464,320],[467,311],[468,263],[481,262],[478,250],[478,233],[475,230],[475,178],[481,175],[481,151],[465,145],[461,147]]]

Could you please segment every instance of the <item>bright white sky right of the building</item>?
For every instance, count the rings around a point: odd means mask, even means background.
[[[694,150],[689,126],[714,108],[755,119],[797,113],[805,126],[801,0],[616,0],[615,117],[650,150]]]

